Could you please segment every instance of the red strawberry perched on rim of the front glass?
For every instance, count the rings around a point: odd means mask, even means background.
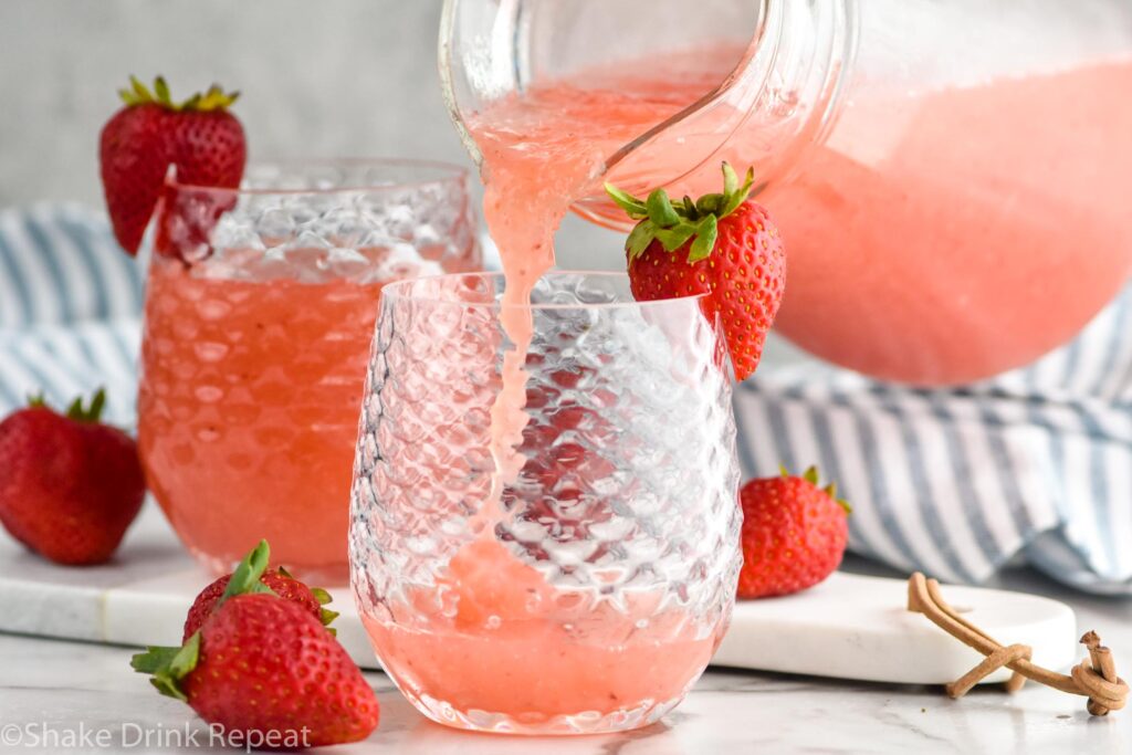
[[[675,205],[663,189],[642,201],[611,185],[606,191],[635,221],[625,244],[637,301],[707,293],[703,312],[723,327],[735,376],[749,377],[763,353],[786,289],[786,250],[778,226],[747,199],[754,171],[723,163],[723,194]]]

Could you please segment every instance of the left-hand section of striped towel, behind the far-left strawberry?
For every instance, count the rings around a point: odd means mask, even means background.
[[[0,211],[0,415],[43,391],[54,406],[106,388],[136,422],[142,263],[80,205]]]

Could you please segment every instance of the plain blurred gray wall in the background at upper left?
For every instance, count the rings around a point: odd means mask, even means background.
[[[440,100],[440,0],[0,0],[0,207],[101,203],[97,135],[129,74],[173,95],[239,88],[252,158],[389,155],[469,164]],[[576,218],[563,267],[619,240]]]

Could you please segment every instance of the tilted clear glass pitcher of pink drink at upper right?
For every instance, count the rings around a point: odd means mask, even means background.
[[[600,119],[572,198],[610,228],[602,181],[698,196],[754,165],[789,255],[778,331],[866,375],[1029,363],[1132,263],[1127,0],[446,0],[440,71],[481,168],[494,103],[539,100],[558,138]]]

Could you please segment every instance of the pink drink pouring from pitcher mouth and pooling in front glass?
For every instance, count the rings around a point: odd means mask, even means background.
[[[720,75],[666,77],[651,91],[619,98],[612,92],[594,97],[550,89],[499,103],[472,125],[483,152],[484,215],[507,281],[501,325],[512,348],[491,410],[496,473],[473,523],[478,537],[453,557],[429,594],[415,597],[427,606],[441,592],[455,595],[455,615],[437,617],[427,632],[363,617],[386,669],[410,694],[532,723],[641,711],[683,696],[714,652],[719,636],[697,636],[675,610],[658,617],[659,598],[648,594],[631,597],[628,610],[580,610],[578,624],[586,627],[580,640],[577,627],[564,619],[571,595],[512,555],[496,539],[496,525],[507,518],[504,488],[525,463],[517,446],[528,421],[528,306],[533,285],[554,265],[555,230],[575,199],[600,186],[610,144],[693,103]],[[599,113],[607,120],[595,120]],[[641,616],[650,617],[648,627],[637,624]]]

